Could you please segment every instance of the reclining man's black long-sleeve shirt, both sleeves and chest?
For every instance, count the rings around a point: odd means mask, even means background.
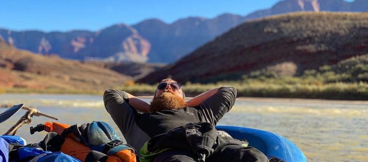
[[[128,95],[124,91],[106,90],[104,102],[106,110],[110,113],[128,144],[139,150],[150,137],[167,133],[187,123],[203,121],[215,126],[218,120],[234,106],[236,96],[236,88],[225,86],[220,87],[214,95],[199,106],[140,115],[137,115],[136,110],[129,105],[128,100],[126,100]]]

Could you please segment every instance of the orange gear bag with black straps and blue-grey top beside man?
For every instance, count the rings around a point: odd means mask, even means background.
[[[51,144],[44,144],[45,147],[60,148],[59,151],[82,162],[136,162],[134,149],[123,144],[113,128],[105,122],[94,121],[82,124],[79,127],[77,125],[69,126],[62,123],[46,122],[44,125],[38,125],[37,127],[31,128],[31,134],[32,129],[33,132],[41,131],[43,127],[46,132],[55,132],[59,137],[64,138],[62,143],[49,142]],[[60,143],[61,146],[56,146]]]

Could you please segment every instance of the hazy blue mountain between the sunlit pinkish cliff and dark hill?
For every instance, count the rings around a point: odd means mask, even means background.
[[[173,62],[244,21],[241,16],[223,14],[213,19],[189,17],[170,25],[146,20],[133,27],[151,42],[150,62]]]

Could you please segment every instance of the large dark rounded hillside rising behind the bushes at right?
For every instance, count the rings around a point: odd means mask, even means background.
[[[238,80],[262,69],[298,76],[363,54],[368,13],[293,13],[244,23],[140,82]]]

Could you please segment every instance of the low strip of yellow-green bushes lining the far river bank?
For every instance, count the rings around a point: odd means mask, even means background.
[[[234,86],[237,97],[267,97],[267,98],[303,98],[329,100],[368,100],[367,82],[333,82],[307,81],[301,78],[286,77],[282,79],[267,79],[260,81],[250,79],[245,81],[220,81],[217,83],[190,83],[183,85],[185,95],[193,97],[219,86]],[[156,85],[127,82],[123,86],[112,87],[121,89],[136,96],[153,95]],[[60,90],[60,89],[1,89],[1,93],[46,93],[46,94],[103,94],[100,90]]]

